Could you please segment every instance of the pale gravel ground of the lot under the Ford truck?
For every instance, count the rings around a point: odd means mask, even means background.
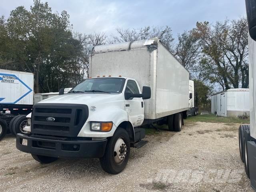
[[[249,191],[238,149],[238,125],[203,123],[181,132],[162,129],[132,148],[126,169],[102,171],[98,159],[60,159],[40,164],[15,147],[15,138],[0,141],[0,189],[34,191]]]

